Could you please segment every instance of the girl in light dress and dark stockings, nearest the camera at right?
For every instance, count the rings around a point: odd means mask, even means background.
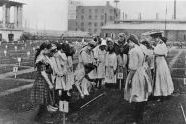
[[[143,120],[144,106],[152,92],[152,87],[143,66],[145,56],[137,37],[130,35],[127,42],[132,49],[129,51],[129,74],[126,80],[124,99],[134,105],[133,123],[136,124]]]

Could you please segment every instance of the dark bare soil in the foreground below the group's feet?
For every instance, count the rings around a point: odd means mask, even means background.
[[[83,104],[101,93],[104,95],[80,109]],[[62,124],[63,116],[60,112],[52,115],[45,113],[41,122],[35,123],[34,110],[29,108],[28,95],[29,90],[24,90],[1,98],[0,108],[8,110],[6,114],[12,116],[9,119],[13,119],[14,124]],[[70,113],[66,115],[67,124],[128,124],[134,112],[132,105],[123,99],[123,92],[118,89],[95,91],[93,95],[70,105]],[[174,94],[163,102],[149,101],[145,107],[143,123],[184,124],[180,105],[186,110],[186,94]],[[4,121],[2,124],[9,123]]]

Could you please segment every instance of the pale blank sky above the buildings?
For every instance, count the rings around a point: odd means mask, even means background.
[[[35,29],[67,30],[68,0],[14,0],[24,5],[23,26]],[[77,0],[83,5],[105,5],[106,1],[115,6],[114,0]],[[118,7],[127,14],[128,19],[171,19],[173,16],[173,0],[120,0]],[[166,12],[167,6],[167,14]],[[0,10],[1,12],[1,10]],[[11,9],[13,13],[13,9]],[[177,18],[186,19],[186,0],[177,0]],[[13,14],[12,14],[13,15]],[[166,15],[166,16],[165,16]],[[121,17],[122,18],[122,17]],[[13,16],[11,16],[13,21]]]

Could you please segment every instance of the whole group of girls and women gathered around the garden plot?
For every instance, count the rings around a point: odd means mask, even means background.
[[[139,40],[134,34],[120,33],[117,41],[91,39],[79,51],[75,71],[73,47],[43,43],[35,56],[37,74],[31,92],[32,103],[39,110],[36,119],[47,107],[58,109],[60,100],[68,101],[73,85],[81,98],[92,89],[111,86],[124,89],[124,99],[135,108],[133,122],[140,123],[149,96],[161,96],[158,100],[162,100],[174,91],[165,59],[167,39],[158,32],[149,36],[150,40]],[[51,89],[55,89],[53,93]]]

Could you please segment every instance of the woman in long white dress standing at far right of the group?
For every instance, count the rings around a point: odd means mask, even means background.
[[[169,96],[174,91],[170,70],[168,68],[165,57],[167,56],[168,49],[166,46],[166,38],[155,38],[157,46],[154,48],[155,54],[155,84],[154,96]]]

